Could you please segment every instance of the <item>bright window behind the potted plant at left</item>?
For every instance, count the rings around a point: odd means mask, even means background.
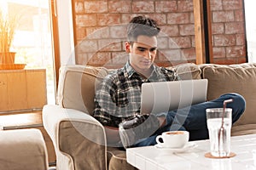
[[[1,0],[1,8],[6,14],[19,16],[12,46],[15,63],[26,64],[29,69],[46,69],[47,100],[55,104],[49,0]]]

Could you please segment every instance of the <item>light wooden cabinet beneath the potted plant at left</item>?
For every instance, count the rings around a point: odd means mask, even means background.
[[[42,109],[47,103],[45,69],[0,71],[0,111]]]

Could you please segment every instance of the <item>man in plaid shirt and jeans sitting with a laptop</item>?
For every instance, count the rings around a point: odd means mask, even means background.
[[[154,65],[157,52],[157,35],[160,28],[155,20],[144,16],[134,17],[127,27],[128,41],[125,51],[128,62],[105,77],[96,90],[95,118],[106,129],[108,144],[135,147],[156,144],[155,138],[162,132],[189,131],[189,139],[207,139],[206,109],[223,107],[226,99],[233,99],[227,106],[233,109],[233,122],[245,110],[245,100],[239,94],[224,94],[218,99],[192,105],[178,111],[156,115],[140,112],[143,82],[178,81],[176,72]]]

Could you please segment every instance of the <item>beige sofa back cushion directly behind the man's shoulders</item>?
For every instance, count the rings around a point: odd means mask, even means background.
[[[201,79],[198,65],[188,63],[168,67],[177,71],[182,80]],[[84,111],[92,115],[95,109],[95,89],[110,70],[88,65],[63,65],[60,69],[57,104],[64,108]]]

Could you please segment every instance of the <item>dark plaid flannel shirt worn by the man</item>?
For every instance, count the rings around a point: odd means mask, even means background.
[[[119,123],[140,114],[143,82],[177,81],[175,71],[154,67],[148,79],[141,77],[129,64],[105,77],[96,89],[94,117],[104,126],[118,127]]]

